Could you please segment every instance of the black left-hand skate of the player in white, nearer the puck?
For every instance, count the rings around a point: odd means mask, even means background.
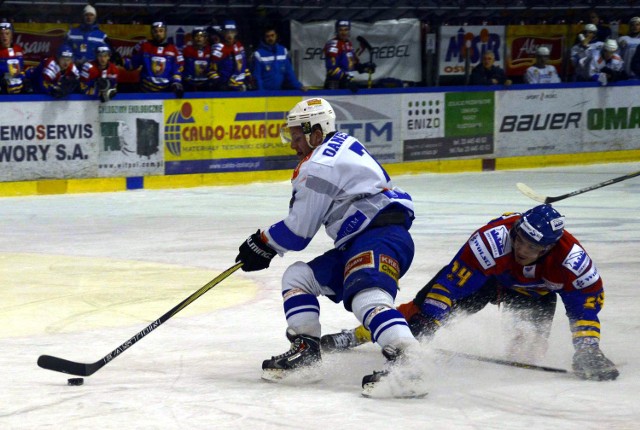
[[[262,379],[281,381],[294,373],[298,374],[304,369],[313,368],[322,361],[319,338],[299,335],[287,329],[287,339],[291,342],[289,351],[262,362]],[[306,376],[309,377],[304,378],[305,380],[318,379],[318,375]]]

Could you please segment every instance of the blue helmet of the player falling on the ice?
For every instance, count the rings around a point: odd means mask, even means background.
[[[550,247],[564,233],[564,216],[551,205],[539,205],[522,214],[514,231],[531,243]]]

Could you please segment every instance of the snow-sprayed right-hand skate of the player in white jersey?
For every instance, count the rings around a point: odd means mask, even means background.
[[[426,396],[424,375],[416,364],[407,358],[400,348],[387,345],[382,349],[387,359],[385,370],[374,371],[362,378],[364,397],[396,399],[420,399]]]

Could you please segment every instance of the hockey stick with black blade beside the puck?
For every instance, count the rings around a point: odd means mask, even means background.
[[[140,339],[160,327],[163,323],[165,323],[169,318],[180,312],[182,309],[189,306],[191,303],[196,301],[200,296],[204,293],[218,285],[220,282],[224,281],[228,278],[233,272],[238,270],[242,266],[242,263],[237,263],[214,279],[209,281],[206,285],[202,286],[198,291],[191,294],[189,297],[178,303],[173,309],[171,309],[166,314],[162,315],[157,320],[153,321],[151,324],[140,330],[136,333],[131,339],[111,351],[109,354],[102,357],[100,360],[95,363],[77,363],[75,361],[65,360],[63,358],[52,357],[50,355],[41,355],[38,357],[38,366],[43,369],[54,370],[56,372],[68,373],[70,375],[77,376],[90,376],[100,370],[104,365],[109,363],[111,360],[122,354],[124,351],[129,349],[133,344],[138,342]]]

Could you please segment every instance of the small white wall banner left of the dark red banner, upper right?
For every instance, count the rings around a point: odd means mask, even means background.
[[[464,76],[467,55],[473,68],[486,51],[504,68],[505,27],[499,25],[441,26],[438,71],[440,77]]]

